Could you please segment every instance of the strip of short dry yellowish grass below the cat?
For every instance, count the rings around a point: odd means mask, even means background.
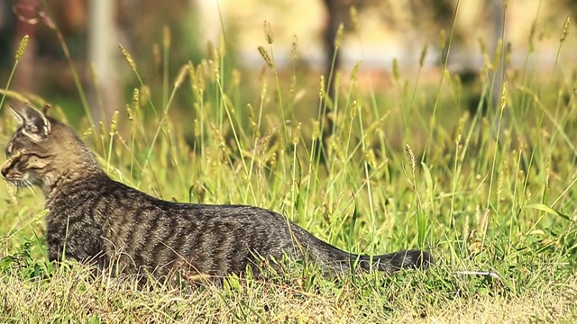
[[[298,278],[296,278],[298,281]],[[366,286],[303,286],[254,281],[202,286],[183,292],[165,287],[135,289],[130,280],[91,279],[73,266],[50,279],[0,282],[3,321],[37,322],[304,322],[304,323],[517,323],[574,320],[577,281],[548,283],[522,295],[493,291],[468,296],[422,290],[371,292]],[[394,284],[380,289],[393,289]],[[501,294],[505,293],[505,294]],[[419,295],[426,294],[422,301]],[[384,295],[384,296],[383,296]],[[26,320],[28,319],[28,320]]]

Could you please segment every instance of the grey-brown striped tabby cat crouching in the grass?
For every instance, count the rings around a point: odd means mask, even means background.
[[[11,107],[18,129],[8,142],[5,179],[37,185],[46,198],[50,261],[63,258],[163,278],[259,272],[263,260],[311,260],[323,272],[426,268],[426,251],[354,255],[325,243],[275,211],[245,205],[167,202],[108,177],[69,126],[29,105]]]

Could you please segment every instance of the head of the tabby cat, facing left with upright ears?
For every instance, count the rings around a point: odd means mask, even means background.
[[[37,184],[45,189],[62,175],[94,163],[68,126],[28,105],[10,108],[19,127],[5,149],[2,175],[6,180],[17,187]]]

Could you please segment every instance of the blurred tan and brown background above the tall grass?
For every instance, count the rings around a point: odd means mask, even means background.
[[[508,68],[527,67],[528,62],[546,74],[553,71],[563,23],[575,14],[573,0],[3,0],[0,87],[5,88],[14,53],[27,34],[28,47],[10,89],[60,105],[72,121],[84,110],[62,41],[96,121],[107,121],[114,110],[122,110],[139,86],[118,44],[132,55],[153,96],[156,89],[160,93],[165,71],[172,82],[188,61],[197,65],[210,58],[211,48],[224,48],[226,68],[243,81],[241,102],[250,101],[246,98],[261,92],[266,63],[258,47],[264,46],[280,77],[283,70],[287,75],[297,72],[300,109],[315,115],[319,77],[328,76],[333,64],[346,74],[360,62],[361,87],[364,80],[371,91],[383,94],[394,91],[394,59],[409,82],[422,67],[419,82],[438,85],[453,31],[447,67],[463,85],[473,87],[472,103],[458,108],[476,109],[474,87],[480,88],[483,51],[493,55],[504,39]],[[335,53],[341,24],[342,45]],[[565,41],[563,46],[574,48],[574,33]],[[169,51],[164,50],[167,42]],[[558,61],[573,67],[574,59],[574,51],[565,50]],[[186,112],[192,95],[179,94],[174,113]]]

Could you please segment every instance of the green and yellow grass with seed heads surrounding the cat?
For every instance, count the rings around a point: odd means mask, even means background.
[[[45,261],[40,191],[16,193],[5,184],[0,320],[577,320],[572,67],[507,70],[503,93],[490,94],[499,81],[490,77],[496,65],[487,64],[473,90],[489,108],[471,115],[455,76],[440,73],[431,83],[397,69],[389,91],[373,88],[356,69],[337,73],[339,100],[318,103],[326,91],[316,76],[280,71],[273,44],[262,50],[269,61],[260,77],[227,66],[224,48],[197,66],[181,62],[168,91],[165,81],[148,95],[146,76],[136,74],[141,85],[114,126],[75,126],[112,177],[147,193],[258,205],[337,247],[369,254],[426,248],[436,265],[337,282],[296,265],[266,281],[137,289],[130,278],[92,280],[74,263],[54,269]],[[537,55],[528,52],[527,60]],[[260,90],[246,94],[241,78],[258,79],[251,86]],[[177,94],[194,104],[170,111]],[[334,120],[329,138],[316,113],[323,109]],[[58,105],[50,113],[66,120]],[[6,113],[0,125],[6,142],[15,122]]]

